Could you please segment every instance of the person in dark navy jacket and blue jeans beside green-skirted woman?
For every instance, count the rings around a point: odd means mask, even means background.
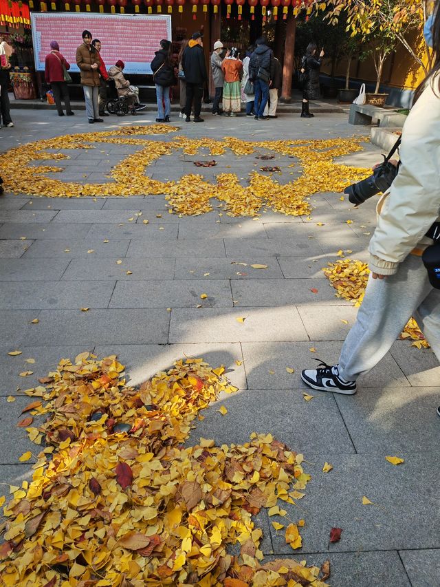
[[[266,39],[261,36],[256,40],[256,50],[252,53],[249,62],[249,79],[254,82],[255,120],[268,120],[263,116],[269,99],[269,88],[274,78],[274,52],[267,47]]]

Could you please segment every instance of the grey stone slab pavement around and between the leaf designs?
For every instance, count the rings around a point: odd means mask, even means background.
[[[147,112],[89,127],[79,111],[74,120],[47,110],[15,110],[13,115],[16,126],[0,130],[2,151],[39,138],[148,125],[154,118]],[[310,120],[283,114],[265,123],[206,115],[200,125],[173,122],[189,137],[251,141],[369,133],[349,126],[345,114]],[[378,149],[364,147],[341,161],[369,166],[379,160]],[[111,165],[135,151],[126,145],[102,149],[104,154],[94,153],[102,155],[98,158],[75,152],[69,165],[58,162],[67,169],[56,177],[102,181]],[[175,153],[157,160],[153,176],[164,180],[192,173],[192,159]],[[272,163],[289,161],[280,157]],[[221,170],[243,178],[253,163],[252,157],[226,153]],[[206,177],[214,171],[206,170]],[[313,221],[307,222],[271,210],[259,220],[219,217],[215,208],[179,218],[166,212],[166,200],[157,195],[49,199],[6,193],[0,198],[0,481],[18,484],[30,478],[29,465],[18,462],[21,453],[34,449],[16,427],[29,401],[23,389],[59,359],[83,350],[117,353],[131,382],[138,384],[185,355],[203,356],[212,365],[225,364],[239,392],[221,398],[225,416],[218,404],[206,409],[190,442],[201,436],[219,444],[246,442],[252,431],[271,432],[305,455],[305,471],[311,474],[306,497],[297,506],[285,506],[289,519],[305,519],[303,548],[293,553],[270,524],[283,519],[269,519],[262,511],[256,523],[265,533],[267,557],[295,555],[316,564],[329,557],[333,587],[439,585],[440,421],[435,408],[440,367],[430,350],[396,341],[362,378],[357,395],[312,392],[314,398],[304,401],[300,370],[313,365],[314,358],[338,359],[357,311],[336,299],[320,269],[338,259],[340,248],[366,259],[366,233],[375,224],[372,201],[355,210],[339,195],[323,193],[314,195],[311,204]],[[141,211],[137,222],[128,221]],[[347,218],[353,224],[346,224]],[[148,225],[142,224],[145,219]],[[207,299],[201,300],[201,293]],[[83,307],[90,309],[81,312]],[[38,324],[31,323],[35,318]],[[15,349],[22,354],[8,356]],[[26,363],[28,358],[35,363]],[[286,367],[295,372],[289,374]],[[23,370],[34,373],[23,379]],[[7,401],[10,395],[15,401]],[[404,458],[403,465],[386,462],[385,456],[395,455]],[[321,471],[325,461],[333,465],[329,473]],[[362,505],[363,495],[373,505]],[[329,544],[333,526],[342,528],[342,540]]]

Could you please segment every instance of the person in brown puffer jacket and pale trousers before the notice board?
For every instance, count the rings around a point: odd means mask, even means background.
[[[100,87],[100,67],[99,53],[91,45],[91,32],[83,31],[83,43],[76,50],[76,65],[80,68],[81,84],[84,89],[85,109],[89,124],[94,122],[103,122],[99,117],[99,87]]]

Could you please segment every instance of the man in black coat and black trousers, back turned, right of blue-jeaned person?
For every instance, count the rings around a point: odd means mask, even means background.
[[[205,54],[201,34],[195,32],[184,50],[181,61],[186,81],[186,122],[190,122],[192,100],[194,100],[194,122],[203,122],[200,118],[203,85],[208,80]]]

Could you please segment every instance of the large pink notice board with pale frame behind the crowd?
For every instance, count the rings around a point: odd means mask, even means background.
[[[151,74],[151,61],[160,49],[161,39],[171,40],[168,14],[95,14],[85,12],[31,12],[35,68],[44,71],[50,42],[57,41],[70,63],[70,72],[78,72],[76,47],[89,30],[102,43],[101,56],[107,69],[122,59],[124,73]]]

